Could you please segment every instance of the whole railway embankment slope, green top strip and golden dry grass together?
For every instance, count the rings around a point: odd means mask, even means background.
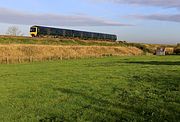
[[[127,43],[0,36],[0,63],[143,54]]]

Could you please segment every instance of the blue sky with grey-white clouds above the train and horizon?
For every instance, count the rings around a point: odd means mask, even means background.
[[[116,34],[118,40],[180,43],[180,0],[0,0],[0,34],[43,25]]]

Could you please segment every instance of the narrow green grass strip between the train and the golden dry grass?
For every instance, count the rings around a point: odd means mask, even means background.
[[[80,40],[68,38],[31,38],[0,36],[0,44],[36,44],[36,45],[81,45],[81,46],[127,46],[124,43],[107,41]]]

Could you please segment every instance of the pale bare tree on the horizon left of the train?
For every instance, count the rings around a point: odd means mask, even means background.
[[[16,26],[9,27],[6,34],[11,35],[11,36],[22,36],[23,35],[21,30]]]

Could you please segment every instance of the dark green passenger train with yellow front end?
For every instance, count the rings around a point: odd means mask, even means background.
[[[93,40],[108,40],[116,41],[117,36],[112,34],[95,33],[87,31],[78,31],[70,29],[51,28],[43,26],[32,26],[30,28],[30,35],[32,37],[72,37],[81,39],[93,39]]]

